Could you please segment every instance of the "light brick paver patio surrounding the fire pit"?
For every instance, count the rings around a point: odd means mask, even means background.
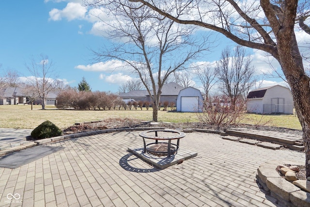
[[[267,160],[305,160],[303,152],[194,132],[186,133],[180,149],[198,156],[157,170],[126,151],[142,146],[138,134],[115,132],[47,143],[65,148],[14,170],[0,168],[0,206],[274,207],[276,200],[258,187],[257,168]]]

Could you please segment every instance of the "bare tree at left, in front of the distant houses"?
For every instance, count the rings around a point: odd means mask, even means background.
[[[31,60],[30,64],[25,64],[28,71],[31,73],[27,77],[33,93],[38,94],[42,104],[42,109],[45,109],[46,99],[49,92],[55,88],[56,76],[53,71],[53,64],[47,56],[40,55],[38,60]]]

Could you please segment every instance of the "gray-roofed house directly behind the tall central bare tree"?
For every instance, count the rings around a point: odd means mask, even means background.
[[[173,102],[176,104],[176,99],[182,89],[184,89],[184,87],[173,82],[163,85],[159,101],[161,103],[168,101],[169,103]],[[156,86],[156,91],[157,90],[158,87]],[[151,95],[153,96],[153,91],[151,91]],[[153,102],[147,90],[135,90],[127,93],[121,93],[120,97],[122,99],[135,99],[135,101],[149,101],[151,104]]]

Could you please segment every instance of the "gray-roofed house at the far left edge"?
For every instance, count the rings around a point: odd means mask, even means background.
[[[26,103],[26,96],[18,87],[8,87],[0,90],[0,105],[15,105]]]

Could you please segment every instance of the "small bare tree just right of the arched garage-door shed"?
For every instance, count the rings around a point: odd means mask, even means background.
[[[211,88],[217,83],[217,71],[208,65],[196,66],[195,74],[202,83],[206,98],[209,98]]]

